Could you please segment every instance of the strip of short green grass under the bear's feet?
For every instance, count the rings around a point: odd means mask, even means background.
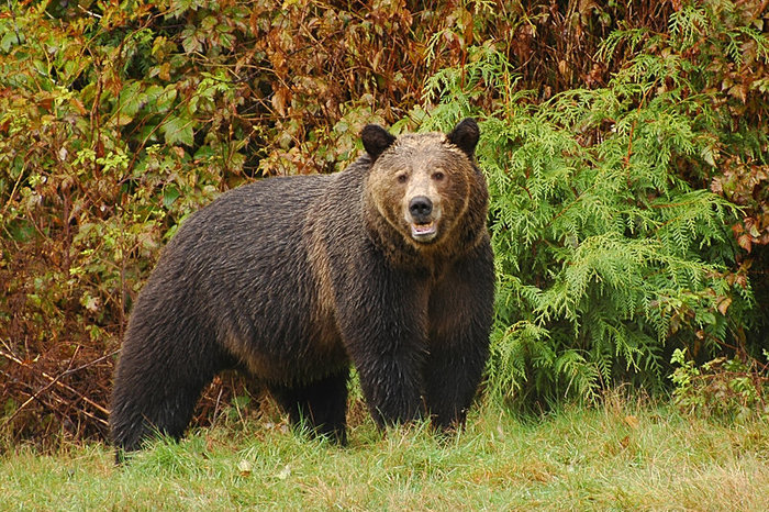
[[[277,421],[277,422],[276,422]],[[2,510],[767,510],[769,422],[682,416],[609,400],[536,421],[493,405],[461,435],[382,436],[358,422],[338,448],[279,418],[156,443],[125,467],[100,444],[2,456]]]

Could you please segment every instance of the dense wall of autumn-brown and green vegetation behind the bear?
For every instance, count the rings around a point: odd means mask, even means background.
[[[489,397],[628,382],[769,414],[768,3],[10,0],[4,437],[104,436],[132,301],[185,215],[344,168],[368,122],[465,115],[492,193]],[[233,393],[218,379],[198,420]]]

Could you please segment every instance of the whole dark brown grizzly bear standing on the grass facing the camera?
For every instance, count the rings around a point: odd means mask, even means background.
[[[350,364],[380,427],[461,424],[489,352],[493,254],[479,129],[361,132],[347,169],[264,179],[190,215],[133,308],[110,415],[120,454],[180,437],[224,369],[346,442]]]

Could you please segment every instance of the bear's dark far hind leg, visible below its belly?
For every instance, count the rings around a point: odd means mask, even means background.
[[[307,425],[310,432],[347,444],[347,380],[349,369],[320,380],[296,386],[270,386],[270,392],[288,412],[292,427]]]

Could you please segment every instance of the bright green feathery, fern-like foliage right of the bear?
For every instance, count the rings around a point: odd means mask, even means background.
[[[703,21],[687,12],[671,23],[686,46]],[[645,35],[613,35],[603,53],[622,37],[637,46]],[[424,127],[483,120],[494,396],[531,404],[592,400],[618,381],[655,389],[675,347],[726,340],[729,307],[749,308],[750,290],[724,277],[736,207],[681,178],[709,169],[716,144],[712,99],[691,92],[688,64],[642,53],[605,88],[535,104],[533,92],[511,92],[512,67],[493,48],[468,62],[427,80]],[[473,105],[489,94],[484,114]]]

